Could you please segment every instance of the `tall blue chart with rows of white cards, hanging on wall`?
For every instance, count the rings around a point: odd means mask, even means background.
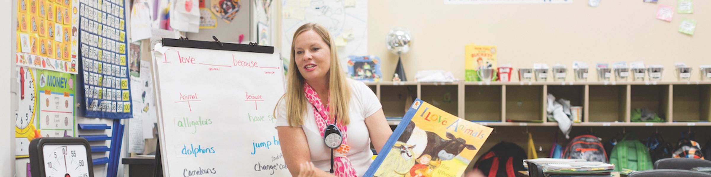
[[[132,118],[124,0],[80,0],[86,117]]]

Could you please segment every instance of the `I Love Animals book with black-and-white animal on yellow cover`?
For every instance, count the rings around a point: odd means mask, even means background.
[[[493,128],[415,100],[364,176],[461,176]]]

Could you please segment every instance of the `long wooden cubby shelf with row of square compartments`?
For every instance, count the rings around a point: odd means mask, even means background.
[[[557,126],[547,94],[582,106],[579,127],[711,126],[711,81],[366,82],[386,117],[401,117],[415,98],[488,126]],[[665,122],[632,122],[648,108]],[[400,120],[388,120],[397,125]]]

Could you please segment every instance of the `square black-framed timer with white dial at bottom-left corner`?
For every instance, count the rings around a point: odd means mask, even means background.
[[[80,137],[41,137],[30,142],[32,176],[94,177],[89,142]]]

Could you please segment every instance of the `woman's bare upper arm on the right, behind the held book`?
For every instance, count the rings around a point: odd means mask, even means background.
[[[390,125],[387,125],[383,108],[380,108],[380,110],[368,116],[368,118],[365,118],[365,126],[368,127],[370,142],[373,142],[375,151],[380,152],[380,149],[383,149],[387,139],[392,135],[392,129],[390,129]]]

